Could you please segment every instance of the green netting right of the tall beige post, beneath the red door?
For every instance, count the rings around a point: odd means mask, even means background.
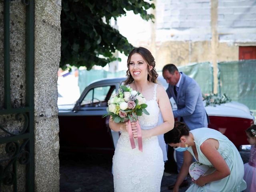
[[[256,110],[256,60],[218,63],[219,93]]]

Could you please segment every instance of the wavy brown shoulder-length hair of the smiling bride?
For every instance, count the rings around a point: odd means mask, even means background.
[[[146,49],[144,47],[138,47],[138,48],[134,48],[128,56],[128,59],[127,59],[128,70],[126,71],[127,79],[125,81],[125,84],[127,85],[134,81],[134,79],[132,78],[130,71],[129,71],[129,65],[130,65],[131,57],[135,53],[140,54],[143,57],[143,59],[146,61],[146,63],[148,64],[148,81],[157,83],[156,78],[158,77],[158,74],[155,69],[156,62],[155,62],[154,57],[152,56],[151,52],[148,49]],[[149,66],[153,67],[152,70],[149,69]]]

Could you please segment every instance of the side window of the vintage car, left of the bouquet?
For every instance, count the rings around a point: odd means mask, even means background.
[[[106,106],[110,95],[115,92],[115,86],[98,86],[92,88],[84,99],[82,106]]]

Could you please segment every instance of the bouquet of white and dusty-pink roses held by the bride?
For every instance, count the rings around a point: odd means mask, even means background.
[[[137,120],[137,116],[142,116],[142,112],[149,115],[146,110],[146,99],[141,93],[132,90],[129,86],[121,85],[116,93],[112,94],[108,100],[108,115],[112,116],[114,122],[124,122],[129,119],[131,122]]]

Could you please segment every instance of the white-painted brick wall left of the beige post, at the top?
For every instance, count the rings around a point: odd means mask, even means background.
[[[210,40],[210,9],[210,0],[157,0],[156,41]]]

